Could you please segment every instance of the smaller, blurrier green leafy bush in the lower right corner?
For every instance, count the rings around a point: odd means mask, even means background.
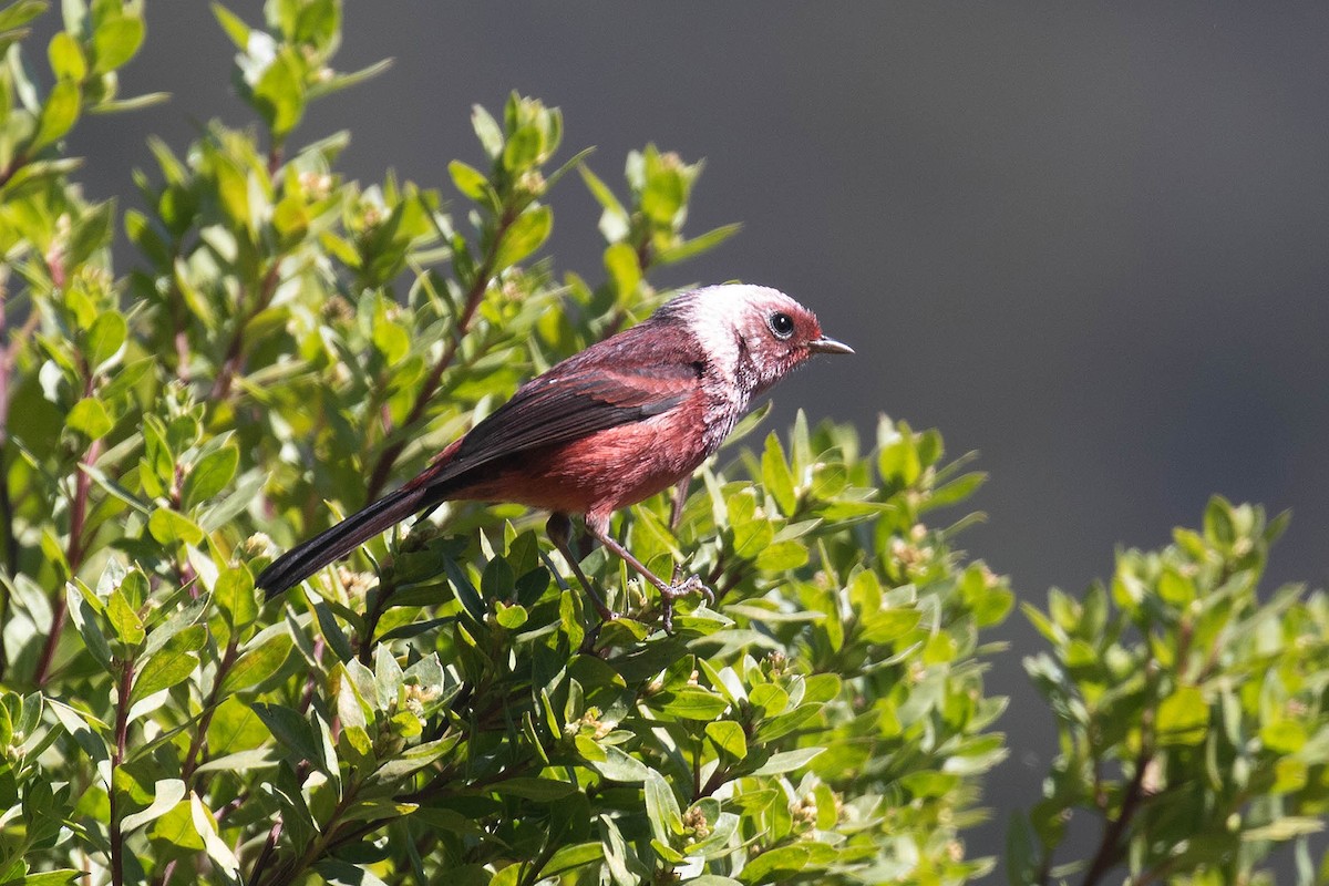
[[[1329,812],[1329,598],[1257,596],[1285,525],[1215,498],[1203,531],[1118,554],[1108,586],[1025,607],[1051,644],[1025,665],[1061,753],[1011,829],[1013,882],[1124,865],[1132,883],[1244,883],[1289,841],[1298,882],[1329,881],[1308,840]],[[1054,867],[1073,810],[1102,820],[1098,850]]]

